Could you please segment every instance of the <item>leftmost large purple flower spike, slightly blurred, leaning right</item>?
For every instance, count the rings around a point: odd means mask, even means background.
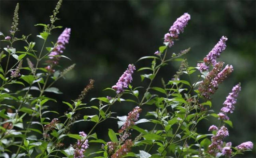
[[[46,63],[48,63],[49,65],[47,67],[45,67],[45,69],[48,70],[49,72],[54,72],[55,71],[53,69],[53,67],[58,64],[58,60],[60,59],[60,57],[56,56],[56,55],[62,54],[63,51],[65,50],[65,48],[66,48],[65,45],[67,43],[69,43],[70,32],[71,32],[71,29],[66,28],[60,34],[60,36],[58,37],[56,46],[51,51],[51,53],[48,55],[49,60],[47,60]]]

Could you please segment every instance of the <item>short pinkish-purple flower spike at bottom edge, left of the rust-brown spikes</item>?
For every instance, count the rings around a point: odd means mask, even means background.
[[[85,140],[87,135],[84,131],[79,132],[79,136],[81,136],[82,139],[77,140],[77,143],[74,145],[74,158],[83,158],[85,150],[89,147],[88,139]]]

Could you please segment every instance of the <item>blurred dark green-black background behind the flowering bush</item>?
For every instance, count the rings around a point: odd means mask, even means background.
[[[52,15],[57,1],[1,0],[0,30],[5,35],[9,34],[17,2],[20,6],[18,28],[21,30],[17,35],[21,37],[22,34],[32,33],[29,39],[35,41],[35,47],[39,49],[42,40],[35,36],[42,31],[42,27],[34,27],[34,24],[49,23],[49,15]],[[55,84],[63,94],[46,93],[58,99],[58,103],[49,103],[50,108],[60,113],[67,111],[67,106],[61,101],[76,99],[90,78],[95,80],[95,88],[84,102],[88,103],[92,97],[114,96],[114,92],[102,89],[114,85],[128,64],[135,63],[142,56],[153,55],[162,46],[163,35],[176,18],[185,12],[191,15],[191,20],[180,35],[180,40],[169,49],[169,56],[172,52],[191,47],[186,58],[190,66],[196,66],[197,61],[211,51],[221,36],[228,37],[227,48],[218,60],[233,65],[234,71],[213,95],[213,109],[217,113],[232,87],[241,82],[242,90],[236,110],[229,115],[234,127],[229,127],[230,136],[225,141],[232,141],[233,146],[245,141],[255,144],[255,1],[63,1],[57,16],[61,20],[55,25],[71,28],[70,43],[63,55],[72,61],[62,58],[60,65],[66,68],[76,63],[76,67],[66,75],[65,80],[61,79]],[[63,29],[54,30],[48,41],[56,42]],[[18,45],[17,42],[14,47],[19,48]],[[47,46],[51,46],[51,43],[48,42]],[[2,43],[3,47],[6,47],[5,43]],[[23,51],[22,47],[20,51]],[[136,67],[138,69],[149,64],[149,60],[142,60],[136,63]],[[179,62],[173,62],[161,69],[153,86],[161,85],[161,77],[165,81],[170,80],[179,65]],[[141,73],[134,74],[132,85],[148,84],[147,80],[140,82]],[[192,79],[195,81],[196,75]],[[140,91],[141,94],[143,92]],[[96,101],[89,103],[97,104]],[[117,103],[111,110],[123,116],[134,106],[130,102]],[[144,113],[141,116],[144,116],[145,111],[154,109],[153,105],[143,107]],[[81,118],[83,115],[93,115],[94,112],[81,111]],[[52,119],[57,116],[49,117]],[[198,131],[207,133],[211,124],[218,124],[218,121],[214,118],[204,120],[199,124]],[[71,128],[71,133],[82,130],[88,133],[92,126],[93,123],[77,123]],[[108,128],[117,131],[117,120],[109,119],[101,123],[96,128],[98,138],[108,140]],[[73,140],[66,141],[68,145]],[[90,145],[92,149],[95,143]],[[97,145],[99,148],[100,145]],[[255,157],[255,147],[253,152],[238,157]]]

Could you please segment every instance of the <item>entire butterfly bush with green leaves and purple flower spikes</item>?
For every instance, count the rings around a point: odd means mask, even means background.
[[[57,41],[48,46],[48,36],[52,31],[62,29],[55,26],[61,3],[62,0],[59,0],[49,24],[35,25],[43,27],[37,35],[42,40],[37,43],[41,46],[39,50],[34,49],[36,43],[30,41],[31,35],[16,37],[19,31],[19,4],[15,7],[10,33],[5,36],[0,32],[4,38],[1,42],[8,43],[0,54],[0,157],[231,158],[252,150],[251,141],[237,146],[225,142],[226,137],[232,136],[228,131],[232,122],[227,115],[235,109],[240,83],[232,88],[219,113],[210,109],[211,95],[233,71],[232,65],[226,65],[223,69],[224,63],[217,62],[228,38],[222,36],[197,67],[189,66],[184,57],[190,48],[180,53],[168,52],[188,24],[188,13],[177,18],[164,35],[163,46],[154,55],[138,60],[152,60],[151,65],[136,68],[130,64],[112,88],[104,89],[110,92],[109,96],[92,98],[89,103],[84,103],[86,94],[94,88],[94,80],[91,79],[77,99],[62,102],[63,106],[68,106],[68,112],[59,114],[51,110],[48,105],[56,100],[47,97],[45,92],[61,94],[58,88],[52,86],[75,67],[74,64],[63,70],[59,67],[59,60],[68,58],[63,53],[68,47],[70,28],[64,29]],[[16,41],[23,41],[24,49],[16,50]],[[15,60],[14,65],[10,65],[12,60]],[[152,86],[160,69],[170,62],[181,62],[179,70],[170,79],[162,78],[162,87]],[[146,88],[132,85],[133,73],[142,71],[146,72],[140,75],[141,82],[148,82]],[[192,75],[197,76],[196,82],[181,79]],[[24,87],[17,90],[17,85]],[[98,106],[90,105],[96,101]],[[131,102],[131,111],[127,116],[116,116],[110,110],[116,102]],[[154,106],[155,110],[143,111],[145,106]],[[81,109],[98,112],[81,117],[78,115]],[[141,116],[142,111],[146,113],[145,116]],[[48,118],[48,113],[58,117]],[[29,116],[30,120],[23,122],[25,116]],[[219,125],[211,125],[207,134],[199,133],[198,123],[212,118],[218,119]],[[95,131],[95,127],[106,119],[118,120],[120,128],[118,131],[108,130],[109,140],[98,138]],[[69,129],[75,123],[85,121],[94,122],[93,128],[78,134],[70,133]],[[142,128],[141,124],[145,123],[148,124],[147,128]],[[74,139],[72,144],[65,143],[68,137]],[[98,143],[99,149],[87,152],[94,143]]]

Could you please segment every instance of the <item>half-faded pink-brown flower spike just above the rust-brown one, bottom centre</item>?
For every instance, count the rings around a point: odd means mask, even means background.
[[[128,117],[126,118],[124,125],[118,131],[118,133],[120,133],[120,141],[124,141],[130,136],[128,130],[131,128],[131,126],[135,124],[136,121],[138,121],[141,111],[142,109],[139,106],[137,106],[128,113]]]

